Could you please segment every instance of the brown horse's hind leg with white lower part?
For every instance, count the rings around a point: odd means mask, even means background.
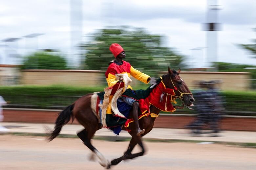
[[[77,136],[83,141],[83,143],[99,158],[101,166],[106,167],[109,163],[106,158],[91,144],[91,138],[95,134],[96,130],[87,131],[83,129],[77,133]],[[92,158],[93,156],[91,156]]]

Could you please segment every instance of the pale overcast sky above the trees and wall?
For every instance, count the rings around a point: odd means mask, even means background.
[[[256,0],[219,0],[218,61],[256,64],[256,59],[237,44],[256,39]],[[144,27],[166,37],[165,44],[186,56],[202,61],[206,46],[206,0],[83,0],[83,34],[105,26]],[[0,40],[45,33],[38,37],[38,48],[70,49],[70,0],[1,0]],[[87,39],[85,39],[87,40]],[[25,41],[19,41],[23,53]],[[3,47],[1,47],[3,51]],[[1,54],[1,53],[0,53]],[[190,60],[188,61],[190,62]]]

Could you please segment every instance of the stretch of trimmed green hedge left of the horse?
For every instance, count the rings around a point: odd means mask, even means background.
[[[0,87],[0,95],[10,104],[6,107],[62,109],[79,96],[103,91],[103,87],[13,86]]]

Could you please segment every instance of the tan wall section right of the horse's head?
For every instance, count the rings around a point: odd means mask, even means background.
[[[159,72],[159,76],[167,72]],[[200,80],[221,80],[222,90],[249,90],[251,85],[251,75],[245,72],[181,72],[181,78],[190,89],[196,89],[195,81]]]

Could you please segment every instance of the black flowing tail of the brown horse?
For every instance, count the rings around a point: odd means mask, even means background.
[[[64,110],[59,112],[55,122],[54,130],[48,137],[50,141],[52,141],[54,138],[59,136],[61,128],[70,121],[71,117],[72,117],[72,122],[74,121],[74,114],[73,114],[74,106],[75,104],[69,105]]]

